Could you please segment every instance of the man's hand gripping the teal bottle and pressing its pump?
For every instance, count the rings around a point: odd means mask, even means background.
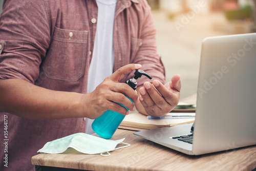
[[[123,115],[129,114],[123,106],[117,103],[126,106],[130,111],[135,111],[135,105],[127,97],[135,103],[139,103],[137,91],[134,91],[128,84],[119,83],[119,81],[126,74],[140,68],[141,65],[138,64],[121,67],[111,76],[105,78],[92,93],[84,94],[81,98],[81,106],[86,117],[97,118],[106,110],[116,111]]]

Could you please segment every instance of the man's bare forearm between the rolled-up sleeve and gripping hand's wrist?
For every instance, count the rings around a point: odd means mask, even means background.
[[[52,91],[22,79],[0,80],[0,112],[30,119],[84,117],[82,94]]]

